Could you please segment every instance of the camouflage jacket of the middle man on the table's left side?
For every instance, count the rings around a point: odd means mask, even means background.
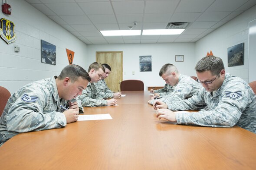
[[[98,89],[95,87],[95,83],[90,82],[88,83],[87,88],[82,91],[82,95],[78,97],[82,107],[106,106],[107,100],[104,99],[105,98],[99,94]]]

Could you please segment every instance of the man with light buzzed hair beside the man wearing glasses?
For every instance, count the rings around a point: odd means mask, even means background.
[[[171,87],[171,90],[158,99],[164,103],[171,103],[172,101],[181,101],[198,94],[202,87],[200,83],[192,79],[190,76],[182,75],[173,64],[165,64],[162,66],[159,72],[167,85]],[[153,104],[154,100],[148,101],[149,104]]]

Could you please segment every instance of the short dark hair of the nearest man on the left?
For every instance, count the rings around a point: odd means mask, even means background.
[[[75,82],[79,77],[81,77],[82,79],[86,79],[89,82],[91,81],[88,72],[86,72],[85,69],[83,69],[81,66],[75,64],[64,67],[58,78],[60,80],[63,80],[66,77],[69,77],[71,82]]]

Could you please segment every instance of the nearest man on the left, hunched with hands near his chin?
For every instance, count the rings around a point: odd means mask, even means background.
[[[77,102],[69,101],[82,94],[90,80],[82,67],[69,65],[59,77],[32,82],[16,91],[0,117],[0,145],[19,133],[61,128],[77,121]]]

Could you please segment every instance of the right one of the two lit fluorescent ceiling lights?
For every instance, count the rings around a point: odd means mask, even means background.
[[[144,29],[142,35],[177,35],[185,29]]]

